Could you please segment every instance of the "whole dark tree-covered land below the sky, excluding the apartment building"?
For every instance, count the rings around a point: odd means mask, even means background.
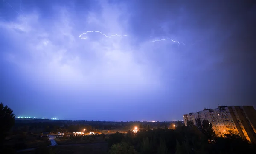
[[[17,122],[17,123],[16,123]],[[140,123],[140,122],[92,122],[89,121],[15,121],[12,109],[0,104],[0,154],[256,154],[256,146],[229,132],[216,137],[212,125],[202,123]],[[99,126],[99,127],[98,127]],[[49,146],[49,138],[42,132],[76,132],[101,127],[140,130],[111,135],[101,133],[92,136],[66,136],[56,138],[58,146]],[[67,133],[65,133],[67,134]]]

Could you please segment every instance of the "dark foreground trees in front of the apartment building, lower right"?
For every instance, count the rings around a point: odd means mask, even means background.
[[[189,124],[175,129],[143,129],[127,134],[116,133],[107,140],[109,154],[255,154],[256,146],[238,134],[216,137],[212,126]]]

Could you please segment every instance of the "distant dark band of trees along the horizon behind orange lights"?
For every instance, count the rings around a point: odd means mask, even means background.
[[[169,127],[170,122],[111,122],[111,121],[71,121],[71,120],[15,120],[15,126],[12,128],[14,134],[21,132],[86,132],[96,130],[131,130],[135,127],[145,128],[165,128]]]

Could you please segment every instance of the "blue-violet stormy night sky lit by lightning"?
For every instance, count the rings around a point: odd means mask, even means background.
[[[110,121],[255,105],[255,3],[0,0],[0,102]]]

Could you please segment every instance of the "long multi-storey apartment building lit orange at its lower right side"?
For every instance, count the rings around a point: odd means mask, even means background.
[[[256,143],[256,110],[253,106],[218,106],[216,109],[203,109],[196,113],[183,115],[184,123],[199,118],[207,119],[218,136],[228,132],[239,133],[241,137]]]

